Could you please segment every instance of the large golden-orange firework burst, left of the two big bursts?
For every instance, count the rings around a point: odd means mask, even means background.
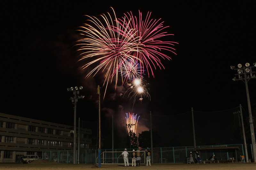
[[[139,60],[132,55],[139,40],[134,38],[132,30],[120,28],[118,22],[115,22],[117,18],[114,10],[113,13],[113,17],[108,13],[108,15],[100,15],[99,19],[87,16],[89,24],[86,23],[77,30],[84,36],[77,41],[77,46],[78,51],[81,51],[81,59],[78,61],[85,62],[82,69],[89,69],[85,77],[94,76],[98,72],[103,73],[106,86],[109,80],[111,83],[113,79],[117,84],[118,70],[122,70],[122,65],[127,59]],[[103,21],[101,22],[100,19]]]

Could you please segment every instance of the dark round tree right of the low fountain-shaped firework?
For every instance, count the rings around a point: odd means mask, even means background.
[[[153,147],[156,147],[156,145],[159,144],[162,139],[157,131],[152,131],[152,136],[153,136]],[[139,133],[138,143],[139,143],[139,146],[142,148],[151,147],[150,130],[149,131],[145,130]]]

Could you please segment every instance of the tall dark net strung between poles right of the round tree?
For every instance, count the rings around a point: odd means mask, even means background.
[[[241,144],[240,107],[217,112],[193,111],[196,145]],[[192,111],[179,115],[152,115],[152,129],[160,146],[193,146]]]

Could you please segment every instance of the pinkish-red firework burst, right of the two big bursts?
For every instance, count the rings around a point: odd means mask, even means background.
[[[160,69],[161,67],[164,68],[160,62],[160,58],[168,60],[171,59],[161,51],[167,50],[174,53],[173,50],[175,49],[170,46],[174,46],[176,42],[161,41],[160,38],[173,34],[167,34],[167,32],[164,32],[164,29],[167,28],[167,26],[164,27],[163,22],[160,22],[160,19],[150,19],[150,14],[151,13],[148,12],[146,19],[143,20],[142,13],[140,11],[139,17],[133,16],[132,12],[127,12],[125,17],[119,19],[119,24],[130,30],[135,30],[135,37],[140,37],[140,41],[136,47],[137,51],[133,52],[133,56],[138,58],[139,60],[136,62],[140,63],[141,67],[146,68],[148,73],[151,72],[154,77],[152,67],[156,69],[157,65]]]

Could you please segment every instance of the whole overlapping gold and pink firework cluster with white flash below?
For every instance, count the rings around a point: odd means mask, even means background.
[[[148,12],[145,20],[140,11],[139,17],[128,12],[123,18],[117,19],[115,11],[111,9],[112,14],[102,14],[97,18],[87,16],[86,23],[77,30],[84,36],[77,41],[77,47],[81,57],[78,61],[84,62],[81,68],[87,72],[85,78],[103,74],[105,96],[112,81],[117,85],[120,73],[123,84],[132,80],[134,82],[135,88],[130,88],[132,90],[129,95],[134,94],[136,99],[150,98],[147,84],[137,86],[134,80],[139,78],[143,82],[142,74],[145,74],[145,70],[148,77],[150,73],[154,77],[153,68],[164,68],[161,59],[171,58],[162,50],[174,53],[172,46],[176,42],[161,40],[172,34],[164,32],[166,27],[160,19],[150,19],[151,13]]]

